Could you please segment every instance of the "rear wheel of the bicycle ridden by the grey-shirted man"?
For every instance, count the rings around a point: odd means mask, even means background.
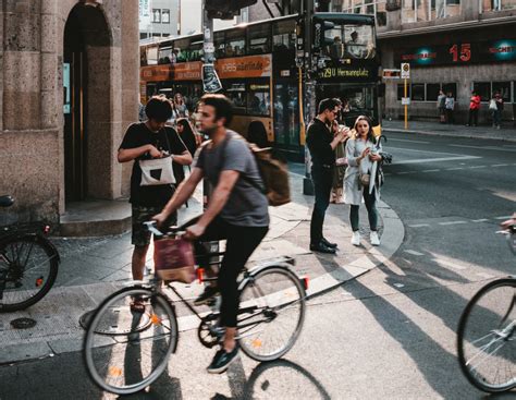
[[[305,320],[305,289],[290,269],[273,266],[250,277],[241,292],[238,342],[257,361],[281,357]]]

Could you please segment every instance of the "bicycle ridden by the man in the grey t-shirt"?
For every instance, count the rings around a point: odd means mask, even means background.
[[[163,233],[156,222],[146,222],[156,237]],[[167,235],[180,234],[174,228]],[[223,252],[204,256],[220,264]],[[244,268],[238,282],[239,308],[237,340],[241,349],[256,361],[272,361],[284,355],[296,342],[305,319],[307,278],[292,271],[292,258],[263,263],[253,269]],[[217,279],[202,278],[199,281]],[[91,316],[85,334],[84,356],[91,379],[101,389],[130,395],[152,384],[164,372],[170,355],[175,352],[179,330],[175,303],[186,307],[200,320],[197,337],[202,346],[217,346],[224,335],[218,325],[219,312],[200,314],[181,295],[172,282],[165,284],[177,300],[170,298],[159,279],[135,281],[108,296]],[[138,299],[145,312],[131,310]],[[213,304],[212,304],[213,305]]]

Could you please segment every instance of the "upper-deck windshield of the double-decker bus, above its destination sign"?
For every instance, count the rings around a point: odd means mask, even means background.
[[[374,27],[371,25],[337,24],[324,32],[324,53],[333,59],[372,59],[376,54]]]

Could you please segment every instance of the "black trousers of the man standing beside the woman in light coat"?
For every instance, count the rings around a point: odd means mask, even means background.
[[[317,245],[322,240],[324,215],[330,205],[330,193],[333,185],[333,167],[314,165],[311,168],[311,180],[314,181],[316,204],[311,213],[310,244]]]

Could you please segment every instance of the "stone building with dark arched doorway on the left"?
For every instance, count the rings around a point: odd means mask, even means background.
[[[137,119],[137,0],[4,0],[0,13],[2,221],[59,222],[73,204],[128,194],[116,161]]]

